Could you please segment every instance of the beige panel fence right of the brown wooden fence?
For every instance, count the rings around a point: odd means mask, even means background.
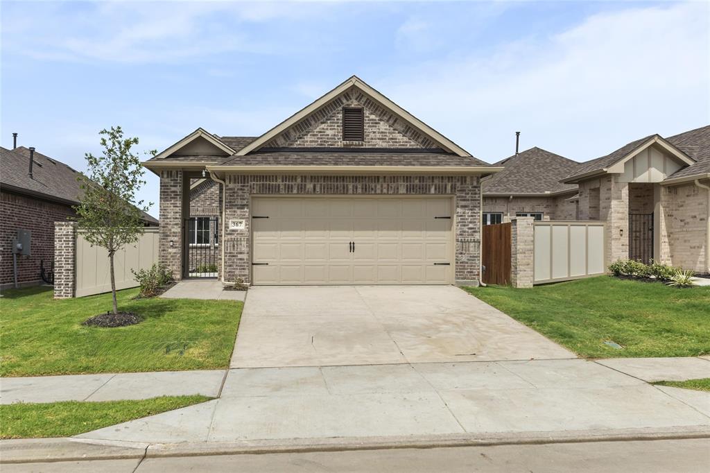
[[[534,284],[606,271],[603,222],[535,222],[533,234]]]

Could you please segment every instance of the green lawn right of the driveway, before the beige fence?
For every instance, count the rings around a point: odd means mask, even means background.
[[[600,276],[532,289],[464,289],[582,357],[710,353],[710,287],[678,289]]]

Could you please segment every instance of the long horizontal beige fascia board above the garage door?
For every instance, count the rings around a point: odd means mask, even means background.
[[[307,165],[208,165],[207,170],[235,174],[311,174],[311,175],[481,175],[503,168],[489,166],[307,166]]]

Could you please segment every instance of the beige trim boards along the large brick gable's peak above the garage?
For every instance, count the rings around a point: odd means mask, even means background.
[[[328,102],[330,102],[332,99],[337,98],[340,94],[345,92],[350,87],[357,87],[361,92],[371,97],[383,107],[389,109],[391,112],[399,116],[404,121],[408,122],[411,126],[421,131],[422,134],[425,134],[426,136],[431,138],[432,141],[435,141],[437,144],[439,144],[439,146],[441,146],[445,151],[457,154],[458,156],[471,156],[471,153],[464,150],[464,148],[461,148],[456,143],[449,140],[449,138],[446,138],[438,131],[432,129],[432,127],[425,124],[423,121],[417,119],[415,116],[407,112],[398,104],[392,102],[390,99],[385,97],[376,89],[373,89],[372,87],[367,85],[355,75],[349,77],[349,79],[345,80],[345,82],[342,82],[342,84],[338,85],[331,91],[322,95],[322,97],[320,97],[319,99],[316,99],[315,102],[312,102],[310,105],[307,105],[307,107],[300,109],[298,112],[288,117],[288,119],[285,119],[280,124],[274,126],[271,130],[256,138],[256,140],[244,146],[244,148],[241,148],[241,150],[236,152],[236,155],[244,156],[248,153],[258,150],[258,148],[261,148],[262,146],[265,146],[266,143],[271,140],[271,138],[274,138],[285,129],[288,129],[290,126],[297,124],[299,121],[306,119],[307,116],[309,116],[313,112],[316,112],[318,109],[326,106]]]

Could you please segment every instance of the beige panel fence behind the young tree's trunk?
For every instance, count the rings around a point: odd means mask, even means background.
[[[84,232],[76,232],[75,297],[106,293],[111,290],[109,255],[84,239]],[[146,227],[135,244],[126,245],[114,255],[116,289],[135,288],[131,269],[150,268],[158,262],[158,227]]]

